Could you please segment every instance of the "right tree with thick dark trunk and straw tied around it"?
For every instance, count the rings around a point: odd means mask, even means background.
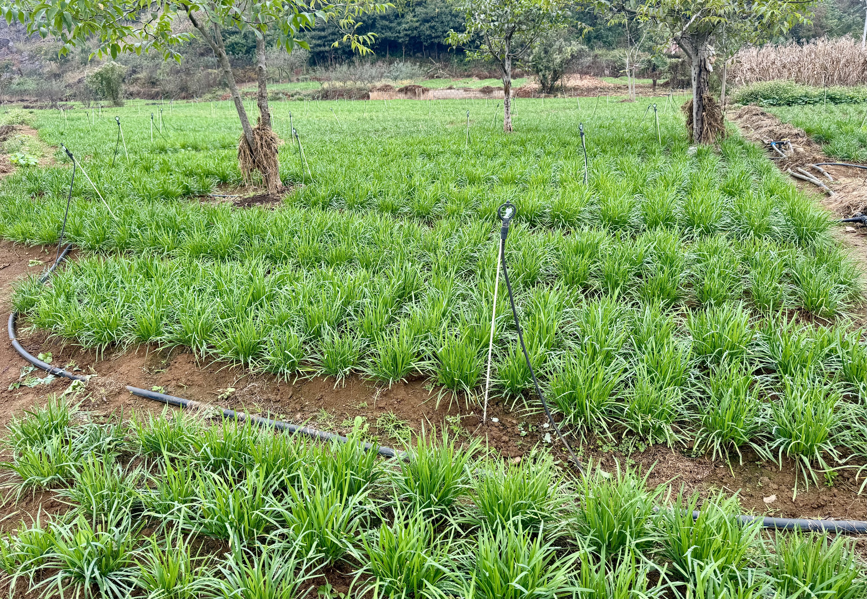
[[[806,20],[812,0],[599,0],[597,8],[636,16],[674,42],[692,65],[690,134],[696,143],[713,143],[725,131],[720,108],[708,93],[716,45],[754,43],[779,35]]]

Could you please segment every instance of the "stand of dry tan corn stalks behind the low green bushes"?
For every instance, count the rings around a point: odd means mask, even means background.
[[[735,84],[788,79],[804,85],[867,83],[867,50],[851,37],[825,37],[743,49],[734,56],[729,73]]]

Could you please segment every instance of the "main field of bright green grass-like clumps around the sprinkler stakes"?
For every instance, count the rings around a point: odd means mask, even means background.
[[[538,110],[523,102],[526,115]],[[465,142],[461,114],[443,107],[432,120],[420,104],[398,104],[369,114],[366,102],[349,103],[341,125],[311,103],[304,131],[329,143],[306,161],[280,149],[289,191],[273,209],[206,196],[240,182],[237,134],[197,104],[179,105],[183,127],[153,143],[130,134],[128,160],[114,164],[114,121],[3,115],[88,155],[100,173],[98,192],[73,187],[65,235],[81,253],[49,285],[36,275],[16,285],[22,322],[98,351],[188,348],[284,379],[355,373],[393,385],[418,374],[472,399],[496,308],[494,393],[532,413],[540,406],[510,307],[502,295],[492,305],[496,210],[517,199],[505,255],[516,309],[567,431],[694,439],[711,459],[751,447],[795,459],[799,479],[813,482],[846,453],[867,454],[864,414],[848,403],[863,399],[867,363],[844,318],[861,301],[857,270],[829,213],[760,148],[733,134],[690,153],[679,115],[662,115],[657,138],[626,124],[640,108],[604,104],[584,119],[594,135],[585,182],[569,101],[549,99],[536,126],[497,144],[473,133],[463,153],[453,152]],[[276,123],[288,108],[275,105]],[[129,131],[146,130],[147,115],[116,112]],[[55,159],[3,179],[0,237],[57,242],[70,165]],[[68,520],[0,543],[3,568],[41,589],[111,595],[139,577],[186,580],[185,550],[170,564],[130,540],[147,519],[158,535],[222,539],[228,555],[196,576],[223,580],[215,592],[225,596],[294,596],[336,559],[377,593],[518,596],[520,585],[581,596],[573,570],[585,563],[580,576],[597,593],[654,596],[645,584],[654,547],[690,593],[759,592],[749,573],[759,541],[733,524],[733,504],[712,498],[695,523],[654,515],[659,491],[629,470],[593,473],[575,490],[544,459],[505,466],[433,435],[412,448],[414,461],[385,466],[362,448],[361,422],[338,446],[168,413],[97,425],[75,409],[58,399],[10,424],[7,489],[60,487],[75,505]],[[127,508],[126,524],[87,520]],[[553,534],[552,516],[593,543]],[[318,549],[293,551],[290,531]],[[104,556],[90,570],[102,582],[88,591],[79,542]]]

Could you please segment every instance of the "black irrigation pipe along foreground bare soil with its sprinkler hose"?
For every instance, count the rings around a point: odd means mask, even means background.
[[[865,167],[865,168],[867,168],[867,167]],[[508,218],[503,218],[503,226],[502,226],[502,229],[500,231],[500,235],[504,239],[505,239],[505,236],[508,235],[509,221],[511,221],[512,217],[514,216],[514,206],[511,204],[508,204],[508,203],[506,203],[506,205],[509,205],[512,207],[512,212],[510,212],[507,215]],[[500,206],[500,208],[502,209],[506,205]],[[500,211],[498,210],[498,212],[500,212]],[[503,217],[505,215],[500,214],[500,216]],[[54,270],[57,268],[57,266],[63,261],[63,259],[67,256],[67,254],[71,250],[72,250],[72,244],[68,244],[63,249],[60,257],[57,258],[55,263],[51,264],[49,270],[46,270],[45,274],[42,275],[42,278],[40,278],[40,280],[39,280],[40,283],[45,283],[48,280],[48,278],[51,276],[51,273],[54,272]],[[551,423],[554,424],[554,430],[557,431],[557,434],[560,434],[560,430],[557,427],[557,424],[553,422],[553,419],[551,418],[551,413],[548,412],[548,410],[547,410],[547,404],[544,402],[544,397],[539,392],[538,381],[536,381],[536,375],[535,375],[535,373],[533,373],[533,369],[532,369],[532,365],[530,363],[529,355],[527,354],[527,350],[526,350],[525,345],[524,345],[524,338],[523,338],[523,335],[521,335],[521,327],[520,327],[520,323],[518,322],[518,313],[515,310],[515,303],[514,303],[514,299],[512,298],[512,286],[509,284],[509,276],[508,276],[507,271],[505,270],[505,251],[503,252],[503,255],[502,255],[502,261],[503,261],[503,276],[505,278],[506,287],[509,290],[509,300],[512,303],[512,316],[514,316],[515,326],[518,328],[518,339],[521,342],[521,349],[524,351],[524,355],[525,355],[525,358],[527,360],[527,365],[530,367],[530,371],[531,371],[531,374],[533,377],[533,382],[536,385],[536,390],[537,390],[539,398],[543,401],[543,406],[545,407],[545,412],[548,413],[548,417],[551,420]],[[26,349],[24,349],[21,346],[21,343],[19,343],[16,339],[15,322],[16,322],[17,316],[18,316],[18,313],[16,311],[13,311],[12,314],[10,314],[10,316],[9,316],[9,325],[8,325],[9,339],[10,339],[10,342],[12,342],[12,347],[15,348],[16,352],[18,352],[18,354],[21,355],[21,357],[23,357],[24,360],[29,361],[29,363],[32,364],[33,366],[36,366],[36,368],[42,368],[42,370],[47,371],[49,374],[55,374],[57,376],[62,376],[62,377],[65,377],[67,379],[70,379],[72,381],[85,381],[85,382],[88,381],[87,376],[81,376],[79,374],[72,374],[71,372],[68,372],[67,370],[63,370],[62,368],[56,368],[54,366],[51,366],[50,364],[45,363],[42,360],[39,360],[38,358],[34,357],[33,355],[29,354],[29,352]],[[144,397],[144,398],[147,398],[150,400],[155,400],[155,401],[162,401],[166,404],[173,405],[173,406],[193,407],[193,408],[199,407],[199,408],[204,408],[204,409],[212,408],[212,409],[222,410],[224,418],[237,419],[237,420],[250,420],[252,423],[257,424],[259,426],[270,426],[270,427],[277,428],[280,430],[289,431],[290,433],[293,433],[293,434],[307,435],[307,436],[312,437],[314,439],[322,439],[322,440],[329,440],[329,441],[330,440],[337,440],[337,441],[340,441],[342,443],[346,443],[349,441],[349,439],[347,439],[346,437],[342,437],[340,435],[336,435],[336,434],[332,434],[332,433],[325,433],[324,431],[319,431],[319,430],[316,430],[315,428],[307,428],[306,426],[297,426],[297,425],[290,424],[288,422],[283,422],[282,420],[271,420],[269,418],[262,418],[261,416],[253,416],[253,415],[248,414],[248,413],[235,412],[234,410],[227,410],[227,409],[223,409],[223,408],[219,408],[219,407],[214,408],[208,404],[200,403],[199,401],[185,400],[183,398],[175,397],[173,395],[166,395],[166,394],[157,393],[155,391],[148,391],[147,389],[140,389],[138,387],[127,386],[127,391],[129,391],[131,394],[138,395],[139,397]],[[566,443],[565,439],[563,439],[562,434],[560,435],[560,438],[563,440],[564,445],[569,449],[569,451],[571,453],[571,448],[570,448],[569,444]],[[364,448],[369,451],[370,449],[373,449],[374,446],[370,445],[369,443],[365,443]],[[399,458],[399,459],[408,459],[409,458],[408,453],[396,451],[396,450],[392,449],[391,447],[376,447],[376,453],[379,453],[380,455],[388,456],[390,458]],[[575,459],[576,466],[578,466],[578,468],[581,468],[582,467],[581,463],[577,460],[577,458],[575,458],[574,453],[572,453],[572,458]],[[582,469],[582,472],[583,472],[583,469]],[[700,513],[699,511],[693,511],[693,518],[698,518],[699,513]],[[832,532],[850,532],[850,533],[856,533],[856,534],[867,533],[867,522],[860,521],[860,520],[818,520],[818,519],[812,520],[812,519],[806,519],[806,518],[764,518],[761,516],[742,516],[741,515],[741,516],[738,516],[738,521],[742,524],[752,524],[753,522],[755,522],[759,518],[761,518],[761,520],[762,520],[762,524],[761,524],[762,528],[776,529],[779,531],[832,531]]]

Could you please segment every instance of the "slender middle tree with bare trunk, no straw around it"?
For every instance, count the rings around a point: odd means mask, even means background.
[[[512,131],[512,67],[551,29],[570,18],[570,0],[456,0],[465,30],[449,31],[447,42],[470,58],[499,65],[503,78],[503,131]]]

